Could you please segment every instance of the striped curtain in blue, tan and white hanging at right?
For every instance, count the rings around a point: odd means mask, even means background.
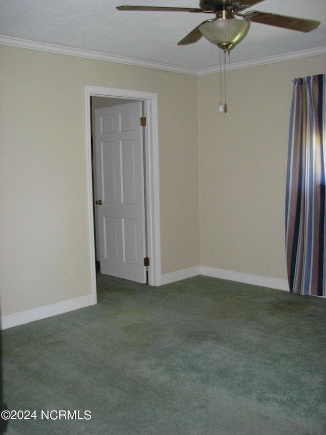
[[[326,296],[325,79],[293,81],[286,180],[290,291],[315,296]]]

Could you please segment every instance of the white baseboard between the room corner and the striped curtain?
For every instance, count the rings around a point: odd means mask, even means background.
[[[287,279],[271,278],[269,276],[253,275],[251,273],[235,272],[233,270],[218,269],[207,266],[200,266],[200,274],[211,276],[213,278],[229,279],[230,281],[237,281],[238,283],[289,291],[289,283]]]

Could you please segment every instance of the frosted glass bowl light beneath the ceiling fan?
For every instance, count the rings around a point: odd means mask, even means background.
[[[200,24],[199,31],[209,42],[226,52],[241,41],[250,28],[250,22],[236,19],[231,11],[220,11],[216,18]]]

